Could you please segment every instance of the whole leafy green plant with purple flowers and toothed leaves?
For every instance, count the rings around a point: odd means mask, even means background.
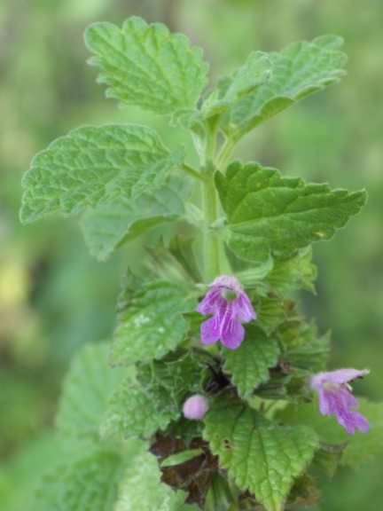
[[[85,43],[106,96],[189,130],[199,166],[151,128],[102,124],[58,138],[24,176],[24,224],[76,216],[98,260],[137,239],[142,254],[124,279],[113,342],[74,358],[34,509],[315,502],[321,472],[381,447],[379,405],[361,399],[356,412],[351,393],[368,371],[325,372],[329,335],[293,299],[314,291],[311,244],[332,238],[366,193],[231,154],[262,122],[340,81],[340,37],[254,51],[211,88],[202,52],[163,25],[96,23]]]

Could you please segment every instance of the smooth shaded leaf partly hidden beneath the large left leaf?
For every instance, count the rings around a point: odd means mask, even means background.
[[[88,208],[81,226],[90,254],[99,261],[155,225],[184,215],[184,187],[176,179],[137,199],[116,197]]]

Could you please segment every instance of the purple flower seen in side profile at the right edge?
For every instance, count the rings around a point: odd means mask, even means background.
[[[346,429],[348,435],[354,435],[356,429],[367,433],[369,422],[363,415],[353,409],[358,407],[356,398],[352,395],[349,383],[370,373],[367,369],[338,369],[330,373],[317,373],[310,381],[311,389],[317,391],[319,411],[322,415],[335,415],[340,426]]]

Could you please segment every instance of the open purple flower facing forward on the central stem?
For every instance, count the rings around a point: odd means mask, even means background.
[[[256,318],[253,305],[242,286],[230,275],[215,279],[197,311],[204,316],[213,315],[201,325],[202,343],[221,341],[229,350],[237,350],[244,340],[242,323]]]

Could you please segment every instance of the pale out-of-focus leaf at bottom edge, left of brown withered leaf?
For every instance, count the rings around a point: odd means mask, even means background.
[[[114,511],[198,510],[198,507],[184,504],[184,491],[172,490],[160,482],[160,476],[155,456],[150,452],[142,452],[123,474]]]

